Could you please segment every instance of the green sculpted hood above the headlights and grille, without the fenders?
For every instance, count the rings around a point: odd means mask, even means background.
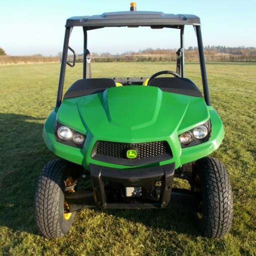
[[[167,140],[207,121],[209,113],[203,98],[122,86],[64,100],[57,119],[96,140],[136,143]]]

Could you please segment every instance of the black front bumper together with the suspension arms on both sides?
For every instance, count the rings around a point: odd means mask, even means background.
[[[104,209],[149,209],[172,207],[198,212],[195,194],[172,188],[175,163],[137,169],[114,169],[91,164],[93,190],[79,190],[66,195],[70,211],[100,207]],[[156,183],[158,184],[156,186]],[[138,194],[127,196],[126,188],[140,188]]]

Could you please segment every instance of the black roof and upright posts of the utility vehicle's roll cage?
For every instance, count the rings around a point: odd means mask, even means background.
[[[87,49],[87,31],[101,29],[105,27],[150,27],[152,29],[171,28],[180,30],[180,75],[185,77],[184,68],[184,27],[186,25],[194,26],[197,46],[199,52],[200,69],[202,77],[204,100],[210,106],[208,82],[206,76],[206,68],[204,61],[204,51],[201,36],[200,19],[194,15],[184,14],[164,14],[161,12],[113,12],[104,13],[102,15],[81,16],[69,18],[66,22],[65,39],[63,46],[63,55],[61,62],[61,72],[57,93],[56,107],[61,105],[63,98],[63,87],[66,73],[66,63],[68,58],[69,38],[73,27],[82,27],[84,32],[84,53],[83,53],[83,79],[88,77],[87,56],[89,51]]]

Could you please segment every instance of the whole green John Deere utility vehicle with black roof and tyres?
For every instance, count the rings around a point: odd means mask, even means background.
[[[201,90],[185,77],[188,26],[197,38]],[[69,46],[74,27],[83,31],[83,77],[63,94],[67,64],[75,66],[76,60]],[[92,77],[89,35],[109,27],[177,31],[176,70],[148,77]],[[127,40],[132,46],[139,39]],[[229,232],[233,202],[228,174],[208,156],[219,147],[224,129],[210,103],[198,17],[127,11],[68,19],[57,102],[43,137],[59,157],[45,165],[36,189],[36,222],[44,236],[66,234],[76,211],[90,207],[182,207],[191,211],[202,236],[219,238]],[[186,180],[186,186],[173,186],[174,178]]]

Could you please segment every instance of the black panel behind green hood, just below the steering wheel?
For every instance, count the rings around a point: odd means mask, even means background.
[[[194,97],[202,97],[196,85],[187,78],[158,77],[149,81],[148,86],[159,87],[164,92],[183,94]]]

